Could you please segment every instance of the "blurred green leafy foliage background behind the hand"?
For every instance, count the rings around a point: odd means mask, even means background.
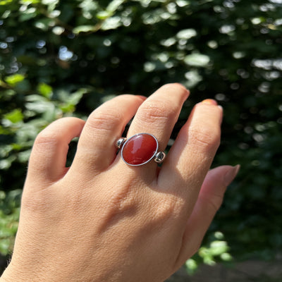
[[[0,273],[37,133],[180,82],[191,94],[171,139],[195,103],[216,99],[214,166],[241,170],[199,252],[168,281],[282,281],[281,31],[281,0],[1,0]]]

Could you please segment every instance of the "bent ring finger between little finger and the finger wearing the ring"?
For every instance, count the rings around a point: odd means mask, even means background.
[[[144,99],[141,96],[120,95],[95,109],[82,130],[71,169],[87,169],[94,173],[108,168],[116,158],[116,140],[121,137],[125,125]]]

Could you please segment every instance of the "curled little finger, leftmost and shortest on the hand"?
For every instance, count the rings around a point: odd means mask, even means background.
[[[61,178],[66,173],[68,144],[84,125],[80,118],[61,118],[42,130],[32,147],[27,176],[44,181]]]

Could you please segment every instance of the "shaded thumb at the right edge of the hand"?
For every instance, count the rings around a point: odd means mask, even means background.
[[[188,219],[183,235],[183,246],[178,257],[178,265],[195,254],[202,243],[212,219],[223,201],[226,187],[238,174],[240,166],[219,166],[207,173],[199,197]]]

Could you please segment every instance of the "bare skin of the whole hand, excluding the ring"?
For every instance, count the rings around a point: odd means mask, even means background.
[[[159,168],[130,167],[115,141],[152,133],[164,150],[189,92],[164,85],[148,99],[121,95],[85,121],[61,118],[35,140],[13,257],[1,282],[160,282],[200,243],[238,167],[209,171],[222,109],[195,105]],[[66,168],[68,143],[80,136]]]

